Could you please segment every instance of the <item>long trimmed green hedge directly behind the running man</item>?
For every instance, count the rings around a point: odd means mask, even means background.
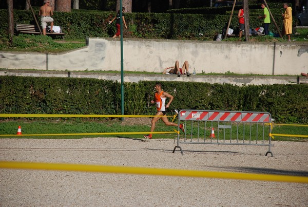
[[[280,123],[308,123],[307,85],[163,82],[174,109],[268,111]],[[155,82],[124,84],[127,115],[153,115]],[[79,78],[0,77],[2,114],[121,114],[119,82]]]

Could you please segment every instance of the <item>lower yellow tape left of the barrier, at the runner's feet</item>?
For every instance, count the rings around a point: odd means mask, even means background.
[[[176,131],[176,130],[175,130]],[[32,135],[0,135],[0,137],[23,137],[23,136],[75,136],[75,135],[142,135],[142,134],[174,134],[178,131],[138,131],[138,132],[112,132],[112,133],[73,133],[73,134],[32,134]]]

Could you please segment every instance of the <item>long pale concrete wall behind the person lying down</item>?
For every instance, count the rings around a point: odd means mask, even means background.
[[[308,72],[308,43],[124,39],[125,71],[162,72],[189,62],[197,73],[288,74]],[[87,46],[61,54],[0,51],[0,68],[120,70],[120,41],[89,38]]]

